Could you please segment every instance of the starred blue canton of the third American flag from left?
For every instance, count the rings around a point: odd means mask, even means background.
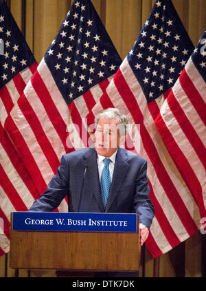
[[[148,103],[170,89],[194,50],[170,0],[156,1],[128,54]]]

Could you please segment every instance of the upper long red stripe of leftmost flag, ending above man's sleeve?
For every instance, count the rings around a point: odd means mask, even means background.
[[[14,166],[16,172],[19,174],[19,176],[21,177],[24,184],[29,189],[34,199],[37,199],[39,196],[39,193],[36,190],[36,187],[34,186],[34,182],[31,180],[30,175],[28,175],[27,169],[25,168],[23,161],[21,160],[19,156],[19,153],[16,152],[16,149],[14,148],[12,142],[10,141],[8,134],[3,129],[1,122],[0,122],[0,136],[1,136],[1,145],[5,153],[7,153],[8,158],[12,162],[12,165]]]

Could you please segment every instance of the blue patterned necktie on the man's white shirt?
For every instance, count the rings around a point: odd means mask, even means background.
[[[101,193],[102,193],[102,200],[104,204],[104,208],[106,208],[106,202],[108,199],[108,192],[111,184],[111,177],[108,169],[108,165],[111,162],[110,159],[104,159],[104,169],[102,170],[102,176],[100,181]]]

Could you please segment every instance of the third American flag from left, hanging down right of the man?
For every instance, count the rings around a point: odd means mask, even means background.
[[[168,252],[190,237],[200,223],[191,189],[154,122],[193,50],[172,2],[156,1],[135,45],[111,80],[106,94],[93,108],[95,115],[103,108],[117,107],[128,116],[131,124],[139,124],[141,142],[134,144],[134,151],[148,161],[155,218],[146,246],[153,257]],[[137,136],[134,132],[130,133],[131,141],[135,140],[135,134]]]

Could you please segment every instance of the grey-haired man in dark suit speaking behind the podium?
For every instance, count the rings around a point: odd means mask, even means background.
[[[98,114],[94,145],[62,156],[57,174],[29,211],[53,211],[67,195],[69,212],[137,213],[142,246],[155,209],[146,160],[119,147],[127,123],[118,109]]]

